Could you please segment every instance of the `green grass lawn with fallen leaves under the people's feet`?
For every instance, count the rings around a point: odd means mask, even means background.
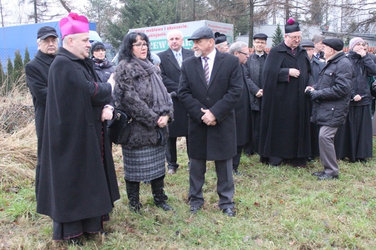
[[[0,186],[0,249],[375,249],[376,160],[365,164],[339,162],[339,180],[318,181],[308,168],[271,167],[258,156],[242,156],[235,177],[237,216],[218,208],[216,174],[208,163],[204,209],[192,215],[187,204],[189,171],[185,149],[179,148],[180,168],[166,175],[165,191],[175,212],[152,201],[150,185],[142,184],[143,214],[129,211],[122,173],[121,151],[114,147],[121,199],[108,236],[67,247],[52,240],[52,221],[35,212],[33,180],[16,178]]]

